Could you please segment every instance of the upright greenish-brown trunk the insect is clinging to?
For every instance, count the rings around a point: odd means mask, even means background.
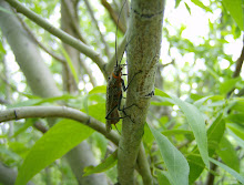
[[[121,185],[134,184],[134,167],[150,104],[149,94],[154,90],[159,61],[164,0],[132,0],[129,20],[128,69],[130,83],[125,113],[118,152],[118,173]],[[138,74],[136,74],[138,73]],[[149,183],[148,183],[149,184]],[[152,184],[152,181],[150,182]]]

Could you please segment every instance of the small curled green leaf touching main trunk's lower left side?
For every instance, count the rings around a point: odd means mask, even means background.
[[[105,158],[103,163],[99,164],[98,166],[85,167],[83,176],[88,176],[94,173],[102,173],[110,169],[116,164],[116,160],[118,160],[116,155],[118,155],[118,151],[114,151],[108,158]]]

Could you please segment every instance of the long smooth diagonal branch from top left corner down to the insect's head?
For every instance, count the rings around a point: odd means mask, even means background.
[[[45,29],[48,32],[50,32],[51,34],[62,40],[64,43],[75,48],[78,51],[80,51],[81,53],[92,59],[93,62],[95,62],[98,66],[100,68],[100,70],[102,71],[104,78],[108,78],[108,74],[104,71],[105,63],[99,53],[96,53],[91,48],[89,48],[88,45],[79,41],[78,39],[73,38],[72,35],[65,33],[64,31],[60,29],[54,28],[51,23],[45,21],[43,18],[34,13],[33,11],[27,9],[24,6],[22,6],[17,0],[6,0],[6,1],[9,2],[13,8],[16,8],[18,12],[21,12],[22,14],[28,17],[30,20],[32,20],[33,22],[35,22],[37,24]]]

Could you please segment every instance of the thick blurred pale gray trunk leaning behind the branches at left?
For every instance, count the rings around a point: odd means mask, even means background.
[[[11,11],[9,4],[3,0],[0,0],[0,6]],[[0,27],[33,94],[42,97],[61,95],[62,93],[57,88],[50,70],[44,64],[37,44],[28,37],[19,20],[10,13],[0,11]],[[65,156],[80,184],[85,184],[88,178],[99,182],[96,184],[103,182],[100,178],[101,175],[89,176],[84,178],[84,183],[82,182],[82,171],[77,165],[82,165],[82,169],[84,166],[94,165],[94,157],[88,148],[87,142],[73,148]]]

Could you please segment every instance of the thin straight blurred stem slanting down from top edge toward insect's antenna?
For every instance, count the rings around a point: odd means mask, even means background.
[[[91,4],[90,4],[90,2],[89,2],[88,0],[84,0],[84,3],[85,3],[85,6],[87,6],[87,8],[88,8],[88,11],[89,11],[90,16],[91,16],[92,22],[95,24],[95,28],[96,28],[96,30],[99,31],[101,41],[102,41],[102,43],[103,43],[104,47],[105,47],[105,49],[104,49],[104,50],[105,50],[105,53],[106,53],[108,58],[110,59],[110,56],[111,56],[111,54],[110,54],[110,48],[109,48],[109,45],[108,45],[108,43],[106,43],[106,41],[105,41],[105,39],[104,39],[103,33],[101,32],[101,30],[100,30],[100,28],[99,28],[99,23],[98,23],[95,17],[94,17],[94,13],[93,13],[93,11],[92,11]]]

